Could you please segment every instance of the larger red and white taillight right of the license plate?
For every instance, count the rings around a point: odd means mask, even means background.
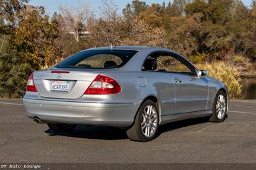
[[[121,87],[116,80],[98,75],[84,94],[117,94],[119,92],[121,92]]]

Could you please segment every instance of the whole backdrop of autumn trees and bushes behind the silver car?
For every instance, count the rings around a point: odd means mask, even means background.
[[[248,8],[236,0],[163,4],[135,0],[120,14],[113,1],[106,0],[97,14],[80,4],[60,6],[52,16],[45,14],[44,7],[28,4],[27,0],[0,1],[0,97],[21,97],[33,71],[94,46],[171,48],[200,68],[207,67],[216,78],[228,76],[228,82],[223,81],[230,84],[234,98],[239,97],[241,86],[232,67],[256,60],[255,1]],[[223,63],[230,69],[221,69]],[[215,68],[220,68],[218,73]]]

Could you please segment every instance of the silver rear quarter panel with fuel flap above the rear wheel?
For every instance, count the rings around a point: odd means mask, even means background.
[[[174,85],[172,74],[153,71],[102,73],[114,78],[122,87],[120,96],[126,99],[140,99],[154,96],[159,101],[161,115],[174,113]],[[143,80],[145,80],[143,82]],[[169,101],[168,104],[163,101]]]

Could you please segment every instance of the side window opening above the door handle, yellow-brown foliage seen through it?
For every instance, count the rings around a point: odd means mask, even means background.
[[[159,55],[157,57],[156,71],[168,71],[175,73],[192,73],[191,70],[180,60],[170,55]]]

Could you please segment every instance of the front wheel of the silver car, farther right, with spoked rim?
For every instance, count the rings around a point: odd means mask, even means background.
[[[209,122],[223,122],[227,117],[227,94],[219,91],[214,99]]]

